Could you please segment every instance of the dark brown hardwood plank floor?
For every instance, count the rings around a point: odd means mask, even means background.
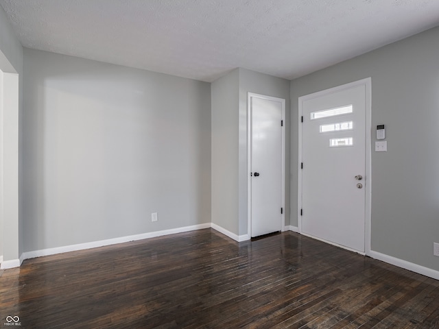
[[[439,281],[293,232],[206,229],[25,260],[0,327],[439,328]],[[9,327],[10,328],[10,327]]]

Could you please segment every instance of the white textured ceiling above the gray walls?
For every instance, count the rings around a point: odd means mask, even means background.
[[[212,82],[293,79],[439,25],[439,0],[0,0],[24,47]]]

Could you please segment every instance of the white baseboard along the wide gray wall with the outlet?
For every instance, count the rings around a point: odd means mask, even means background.
[[[194,230],[202,230],[203,228],[211,228],[211,223],[204,223],[204,224],[198,224],[198,225],[193,225],[193,226],[185,226],[183,228],[172,228],[170,230],[148,232],[148,233],[136,234],[136,235],[130,235],[130,236],[121,236],[120,238],[107,239],[107,240],[102,240],[102,241],[93,241],[93,242],[88,242],[88,243],[80,243],[78,245],[64,245],[62,247],[40,249],[40,250],[34,250],[32,252],[23,252],[23,255],[21,258],[23,258],[23,260],[25,260],[25,259],[36,258],[36,257],[41,257],[41,256],[62,254],[64,252],[75,252],[78,250],[91,249],[91,248],[95,248],[95,247],[103,247],[105,245],[115,245],[117,243],[150,239],[150,238],[155,238],[157,236],[176,234],[176,233],[182,233],[182,232],[189,232],[189,231],[194,231]],[[3,264],[2,264],[2,266],[3,266]],[[17,265],[17,266],[20,266],[20,265]]]

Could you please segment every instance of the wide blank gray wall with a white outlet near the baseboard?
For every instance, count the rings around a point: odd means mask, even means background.
[[[31,49],[24,62],[25,252],[211,221],[209,83]]]

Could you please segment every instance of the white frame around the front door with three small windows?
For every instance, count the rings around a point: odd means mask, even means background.
[[[343,84],[342,86],[337,86],[334,88],[329,88],[326,90],[318,91],[317,93],[312,93],[309,95],[301,96],[298,98],[298,207],[297,207],[297,218],[298,218],[298,232],[300,234],[307,235],[302,232],[302,216],[300,215],[300,210],[302,209],[302,169],[301,169],[301,163],[302,163],[302,103],[304,101],[307,101],[309,99],[313,99],[316,97],[321,97],[324,95],[328,95],[331,93],[337,93],[339,91],[350,89],[356,86],[365,86],[366,87],[366,163],[365,163],[365,183],[364,189],[366,190],[366,200],[365,200],[365,214],[364,214],[364,222],[365,222],[365,228],[364,228],[364,250],[366,252],[366,255],[370,254],[370,223],[371,223],[371,210],[372,210],[372,162],[371,162],[371,156],[372,156],[372,148],[371,148],[371,131],[372,131],[372,79],[370,77],[362,80],[358,80],[355,82],[351,82],[348,84]],[[327,243],[330,243],[329,241],[325,241]],[[337,245],[339,247],[342,247],[344,249],[346,248],[343,245],[338,245],[337,243],[331,243],[333,245]],[[354,252],[357,252],[356,250],[350,249]],[[360,253],[361,254],[361,253]]]

